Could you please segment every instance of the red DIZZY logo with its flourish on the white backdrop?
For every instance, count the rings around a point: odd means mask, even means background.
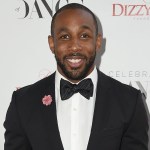
[[[141,0],[140,3],[133,4],[112,4],[112,16],[128,16],[128,17],[150,17],[150,0]]]

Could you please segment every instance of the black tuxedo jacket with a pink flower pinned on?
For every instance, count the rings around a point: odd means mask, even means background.
[[[49,106],[42,103],[45,95],[52,96]],[[54,73],[13,93],[4,122],[4,149],[63,150],[56,117]],[[140,92],[98,71],[87,150],[148,150],[147,132]]]

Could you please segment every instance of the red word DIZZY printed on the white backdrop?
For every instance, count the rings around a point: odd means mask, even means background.
[[[113,16],[149,16],[150,7],[146,5],[113,4]]]

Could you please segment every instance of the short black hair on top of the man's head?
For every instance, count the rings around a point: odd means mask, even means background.
[[[57,15],[60,12],[67,10],[67,9],[81,9],[81,10],[85,10],[88,13],[90,13],[92,15],[94,23],[95,23],[96,35],[98,35],[98,24],[97,24],[97,19],[96,19],[95,14],[89,8],[85,7],[84,5],[81,5],[78,3],[70,3],[70,4],[67,4],[67,5],[61,7],[52,17],[52,21],[51,21],[51,35],[52,36],[54,36],[54,23],[55,23],[55,19],[56,19]]]

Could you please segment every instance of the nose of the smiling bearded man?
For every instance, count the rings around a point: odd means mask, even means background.
[[[80,41],[79,39],[77,38],[73,38],[71,41],[70,41],[70,46],[69,46],[69,49],[73,52],[78,52],[81,50],[81,44],[80,44]]]

